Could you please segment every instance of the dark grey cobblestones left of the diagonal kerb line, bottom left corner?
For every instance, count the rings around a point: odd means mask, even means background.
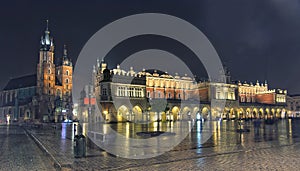
[[[25,131],[18,126],[0,126],[0,170],[55,170]]]

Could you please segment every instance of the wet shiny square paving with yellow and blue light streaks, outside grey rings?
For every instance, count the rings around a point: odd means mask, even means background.
[[[165,124],[165,125],[164,125]],[[169,123],[160,126],[168,128]],[[135,137],[144,131],[132,123],[104,124],[121,134]],[[123,129],[130,127],[132,129]],[[212,122],[212,136],[201,142],[201,125],[171,151],[149,159],[125,159],[99,148],[87,148],[87,157],[74,158],[73,124],[59,124],[40,128],[25,127],[32,138],[53,157],[52,161],[63,170],[299,170],[300,121],[279,120],[272,125],[253,121],[243,123],[250,132],[239,133],[236,121]],[[148,128],[149,129],[149,128]],[[152,127],[151,127],[152,129]],[[155,129],[155,127],[153,127]],[[134,130],[134,131],[132,131]],[[84,127],[84,131],[85,127]],[[123,147],[125,150],[125,146]]]

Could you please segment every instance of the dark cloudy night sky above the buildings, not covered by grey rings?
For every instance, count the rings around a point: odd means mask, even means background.
[[[56,58],[63,44],[76,62],[89,38],[110,22],[138,13],[165,13],[198,27],[211,41],[234,80],[268,80],[270,88],[300,93],[300,1],[298,0],[90,0],[14,1],[0,5],[0,87],[9,78],[35,73],[39,41],[46,22],[54,37]],[[160,37],[140,36],[124,41],[108,58],[115,67],[130,54],[149,48],[178,49]],[[175,50],[176,51],[176,50]],[[203,69],[177,50],[199,77]],[[198,64],[197,64],[198,65]],[[199,64],[201,65],[201,63]],[[202,74],[202,75],[201,75]]]

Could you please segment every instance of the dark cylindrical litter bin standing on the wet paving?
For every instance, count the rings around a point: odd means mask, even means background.
[[[74,157],[81,158],[86,155],[86,142],[84,135],[75,135],[74,137]]]

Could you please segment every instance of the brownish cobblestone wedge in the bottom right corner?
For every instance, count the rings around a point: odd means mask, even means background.
[[[256,149],[127,170],[299,170],[300,145]]]

